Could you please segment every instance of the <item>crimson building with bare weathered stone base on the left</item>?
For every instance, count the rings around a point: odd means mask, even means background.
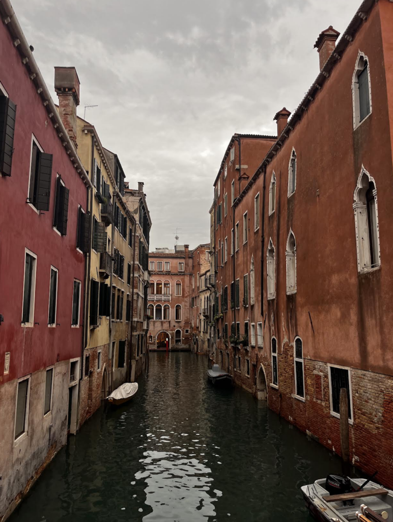
[[[91,184],[8,1],[0,13],[2,518],[77,429]]]

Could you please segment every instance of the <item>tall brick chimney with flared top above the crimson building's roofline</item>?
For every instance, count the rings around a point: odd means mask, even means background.
[[[77,106],[79,105],[79,78],[75,67],[55,67],[55,91],[59,99],[59,115],[67,134],[77,144]]]

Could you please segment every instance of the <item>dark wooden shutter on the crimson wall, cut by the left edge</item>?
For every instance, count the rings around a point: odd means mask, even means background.
[[[16,105],[9,98],[0,98],[0,172],[11,175],[14,152]]]

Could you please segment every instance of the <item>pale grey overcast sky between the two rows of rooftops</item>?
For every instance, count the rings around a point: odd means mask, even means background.
[[[150,248],[209,241],[213,182],[235,132],[276,134],[318,74],[318,34],[360,0],[13,0],[53,93],[75,66],[78,114],[144,182]],[[262,158],[261,158],[262,160]]]

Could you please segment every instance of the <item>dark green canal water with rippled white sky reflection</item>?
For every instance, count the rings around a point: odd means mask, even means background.
[[[133,401],[71,437],[11,522],[311,520],[299,488],[340,460],[206,367],[151,353]]]

